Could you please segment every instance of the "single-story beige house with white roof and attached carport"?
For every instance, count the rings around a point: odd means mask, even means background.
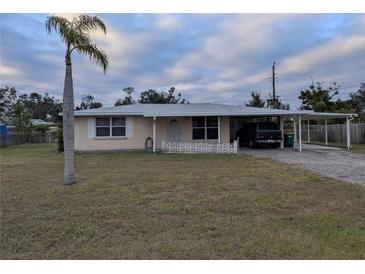
[[[280,124],[293,121],[294,132],[302,121],[346,119],[350,148],[350,121],[356,114],[317,113],[222,104],[133,104],[75,111],[75,150],[164,149],[166,144],[183,147],[237,145],[235,132],[242,121],[271,119]],[[296,129],[296,127],[298,127]],[[299,136],[299,150],[302,138]],[[327,141],[327,140],[326,140]],[[281,144],[283,147],[283,142]],[[194,149],[192,150],[194,151]]]

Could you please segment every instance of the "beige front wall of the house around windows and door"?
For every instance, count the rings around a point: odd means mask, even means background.
[[[88,134],[88,117],[75,117],[75,150],[128,150],[144,149],[147,137],[152,137],[152,118],[133,116],[133,137],[95,138]],[[156,147],[161,148],[162,140],[168,140],[168,125],[171,119],[176,119],[181,127],[181,141],[193,142],[191,117],[157,117],[156,118]],[[221,117],[221,143],[229,143],[229,118]],[[195,141],[202,142],[202,141]],[[207,142],[216,142],[209,140]]]

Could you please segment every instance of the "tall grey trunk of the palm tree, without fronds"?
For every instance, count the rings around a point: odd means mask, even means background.
[[[67,51],[66,75],[63,90],[63,142],[65,159],[65,178],[64,183],[70,185],[75,183],[74,177],[74,95],[72,83],[72,65],[70,52]]]

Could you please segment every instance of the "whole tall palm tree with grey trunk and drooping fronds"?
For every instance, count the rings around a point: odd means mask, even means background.
[[[104,22],[97,16],[79,15],[72,20],[61,16],[48,16],[46,29],[49,34],[55,31],[66,45],[66,75],[63,89],[63,139],[65,158],[64,183],[74,184],[74,96],[72,83],[71,54],[75,50],[90,57],[101,66],[104,73],[108,66],[108,57],[105,52],[92,43],[89,33],[101,30],[106,34]]]

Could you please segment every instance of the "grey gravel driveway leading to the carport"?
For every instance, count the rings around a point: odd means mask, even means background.
[[[269,148],[241,148],[241,153],[271,158],[324,176],[365,185],[365,154],[317,145],[303,145],[302,153],[293,149]]]

